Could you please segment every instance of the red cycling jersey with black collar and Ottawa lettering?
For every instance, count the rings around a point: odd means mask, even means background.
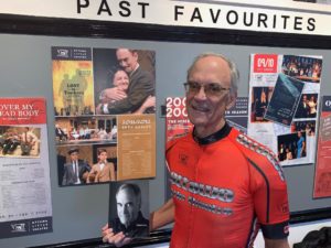
[[[287,185],[276,155],[228,125],[204,139],[193,133],[167,145],[170,247],[250,248],[259,228],[266,238],[286,238]]]

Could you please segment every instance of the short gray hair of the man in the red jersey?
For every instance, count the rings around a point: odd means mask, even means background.
[[[229,67],[229,76],[231,76],[229,91],[231,91],[231,94],[236,94],[237,90],[238,90],[238,80],[239,80],[239,72],[237,69],[237,66],[229,58],[227,58],[226,56],[224,56],[222,54],[218,54],[218,53],[203,53],[203,54],[197,55],[194,58],[192,65],[188,69],[186,79],[189,80],[189,77],[190,77],[192,71],[194,69],[194,66],[195,66],[196,62],[200,61],[201,58],[209,57],[209,56],[220,57],[220,58],[224,60],[227,63],[227,65]]]

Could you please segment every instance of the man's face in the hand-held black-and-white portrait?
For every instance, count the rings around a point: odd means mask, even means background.
[[[128,227],[134,223],[140,209],[139,201],[129,188],[121,190],[116,196],[117,215],[122,225]]]

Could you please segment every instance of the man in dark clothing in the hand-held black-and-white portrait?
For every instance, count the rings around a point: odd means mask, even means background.
[[[110,219],[114,233],[136,238],[149,234],[149,220],[141,214],[141,191],[138,185],[126,183],[116,192],[117,215]]]

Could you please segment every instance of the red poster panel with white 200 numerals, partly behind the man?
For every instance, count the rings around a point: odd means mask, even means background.
[[[167,97],[167,141],[188,133],[193,125],[188,119],[186,98],[185,97]]]

